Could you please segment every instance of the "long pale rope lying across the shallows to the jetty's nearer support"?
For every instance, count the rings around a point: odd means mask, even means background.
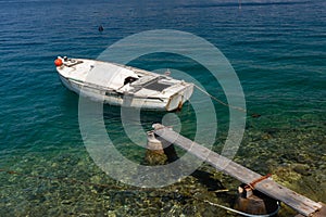
[[[46,177],[46,176],[26,175],[26,174],[23,174],[23,173],[20,173],[20,171],[7,170],[7,169],[1,169],[1,168],[0,168],[0,173],[7,173],[7,174],[10,174],[10,175],[16,175],[16,176],[22,176],[22,177],[26,177],[26,178],[34,178],[34,179],[42,179],[42,180],[48,180],[48,181],[53,181],[53,180],[54,181],[66,181],[66,182],[79,183],[79,184],[84,184],[84,186],[92,186],[92,187],[99,187],[99,188],[106,188],[106,189],[110,189],[110,191],[112,191],[112,186],[110,186],[110,184],[101,184],[101,183],[93,183],[93,182],[80,181],[80,180],[72,179],[72,178],[53,178],[53,177]],[[117,189],[117,188],[115,190],[118,190],[120,192],[127,192],[127,190]],[[131,191],[131,190],[133,191],[142,191],[142,192],[147,192],[147,191],[148,192],[152,192],[152,190],[150,190],[150,189],[139,189],[139,188],[136,189],[135,188],[135,189],[130,189],[129,191]],[[280,205],[277,202],[277,208],[276,208],[275,212],[273,212],[271,214],[266,214],[266,215],[253,215],[253,214],[247,214],[247,213],[243,213],[243,212],[240,212],[240,210],[237,210],[237,209],[234,209],[234,208],[221,205],[221,204],[216,204],[216,203],[210,202],[210,201],[204,200],[204,199],[199,199],[199,197],[196,197],[196,196],[193,196],[191,194],[187,194],[187,193],[167,192],[167,191],[159,190],[159,189],[155,189],[155,191],[161,191],[163,193],[178,193],[181,196],[190,197],[190,199],[193,199],[193,200],[200,201],[200,202],[204,202],[204,203],[208,203],[208,204],[210,204],[212,206],[216,206],[216,207],[220,207],[220,208],[223,208],[223,209],[226,209],[226,210],[229,210],[229,212],[233,212],[233,213],[246,216],[246,217],[271,217],[271,216],[276,215],[278,213],[279,208],[280,208]],[[222,190],[221,192],[226,192],[226,191],[228,191],[228,190]],[[151,197],[159,197],[159,196],[151,196]]]

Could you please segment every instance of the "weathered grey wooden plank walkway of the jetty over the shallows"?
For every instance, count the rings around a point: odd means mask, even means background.
[[[288,206],[297,210],[300,216],[309,217],[322,217],[326,216],[326,206],[323,203],[316,203],[303,195],[296,193],[294,191],[283,187],[272,179],[268,179],[260,174],[256,174],[231,159],[224,157],[215,152],[212,152],[208,148],[204,148],[188,138],[180,136],[171,128],[164,127],[163,125],[155,124],[154,135],[161,137],[170,143],[173,143],[201,161],[204,161],[212,165],[217,170],[221,170],[239,181],[251,186],[255,190],[268,195],[277,201],[281,201]]]

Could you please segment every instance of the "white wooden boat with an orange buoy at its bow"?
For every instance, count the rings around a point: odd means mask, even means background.
[[[174,111],[193,91],[191,82],[126,65],[66,56],[54,63],[66,88],[112,105]]]

